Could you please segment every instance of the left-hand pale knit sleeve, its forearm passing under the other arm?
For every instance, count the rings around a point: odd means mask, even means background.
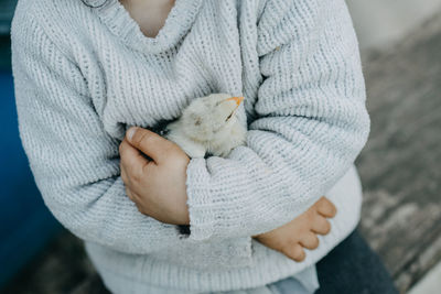
[[[230,266],[225,260],[233,258],[248,264],[250,238],[194,242],[175,226],[138,211],[120,176],[120,141],[104,129],[87,80],[65,47],[24,12],[15,12],[11,31],[19,131],[36,185],[56,219],[80,239],[120,252],[163,255],[170,248],[193,248],[200,258],[185,259],[181,252],[173,261],[202,259]],[[217,248],[216,255],[209,254],[209,246]]]

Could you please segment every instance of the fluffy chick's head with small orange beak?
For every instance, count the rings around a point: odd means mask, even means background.
[[[195,98],[182,113],[181,122],[187,135],[200,141],[209,141],[219,133],[235,128],[236,110],[244,97],[228,94],[212,94]]]

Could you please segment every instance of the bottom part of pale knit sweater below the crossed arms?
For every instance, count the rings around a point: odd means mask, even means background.
[[[170,293],[185,293],[263,286],[315,264],[355,229],[362,205],[361,184],[355,168],[352,167],[325,196],[335,204],[337,215],[330,219],[331,232],[319,236],[319,248],[305,250],[303,262],[294,262],[254,239],[250,266],[218,271],[176,266],[158,261],[152,255],[125,254],[95,243],[86,242],[86,249],[106,285],[115,293],[144,294],[154,287],[170,288]]]

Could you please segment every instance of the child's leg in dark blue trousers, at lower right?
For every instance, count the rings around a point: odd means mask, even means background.
[[[379,257],[355,230],[318,264],[316,294],[398,294]]]

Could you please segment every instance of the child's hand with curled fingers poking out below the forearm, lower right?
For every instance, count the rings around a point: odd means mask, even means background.
[[[316,236],[330,232],[331,224],[326,218],[332,218],[335,214],[335,206],[323,196],[310,209],[290,222],[254,238],[290,259],[302,261],[305,258],[303,248],[319,247]]]

